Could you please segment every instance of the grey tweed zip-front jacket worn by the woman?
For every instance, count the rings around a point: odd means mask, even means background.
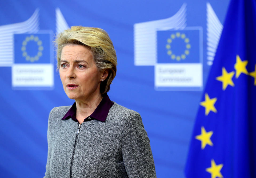
[[[70,107],[50,112],[45,178],[156,177],[149,138],[137,112],[114,103],[105,122],[83,122],[77,135],[78,122],[61,120]]]

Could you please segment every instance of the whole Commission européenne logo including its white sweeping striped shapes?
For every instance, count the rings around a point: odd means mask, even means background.
[[[69,28],[56,8],[56,33]],[[0,26],[0,67],[11,67],[15,90],[54,87],[53,32],[39,30],[39,9],[26,21]]]

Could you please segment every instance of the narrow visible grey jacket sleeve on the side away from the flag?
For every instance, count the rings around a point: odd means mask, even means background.
[[[51,160],[51,114],[53,113],[54,108],[51,110],[48,119],[48,128],[47,128],[47,142],[48,142],[48,155],[46,163],[46,172],[43,178],[50,178],[50,160]]]

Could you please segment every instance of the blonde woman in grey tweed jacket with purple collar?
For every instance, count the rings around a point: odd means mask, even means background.
[[[50,112],[45,177],[156,177],[141,116],[106,94],[117,65],[108,34],[74,26],[55,43],[63,88],[75,102]]]

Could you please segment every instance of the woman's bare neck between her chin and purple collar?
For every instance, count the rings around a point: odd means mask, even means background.
[[[98,95],[95,95],[90,99],[87,98],[84,100],[75,100],[75,104],[77,106],[76,118],[80,124],[83,122],[85,118],[87,118],[93,113],[93,111],[101,102],[102,98],[103,97],[99,93]]]

